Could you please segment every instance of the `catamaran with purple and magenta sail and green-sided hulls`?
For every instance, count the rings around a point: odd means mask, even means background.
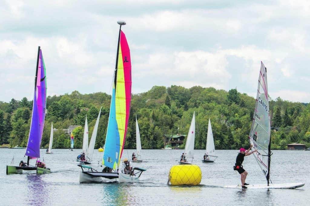
[[[7,165],[7,174],[23,173],[24,170],[36,170],[37,174],[50,173],[49,168],[37,168],[29,164],[30,159],[40,158],[40,145],[44,128],[44,119],[46,111],[46,72],[43,60],[42,50],[38,47],[38,58],[36,75],[34,81],[34,97],[31,116],[31,125],[29,131],[28,144],[25,156],[27,158],[27,167]]]

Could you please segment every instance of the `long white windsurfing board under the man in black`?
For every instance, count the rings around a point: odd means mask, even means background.
[[[294,189],[297,187],[304,186],[305,183],[303,182],[297,182],[297,183],[282,183],[282,184],[258,184],[258,185],[246,185],[247,189]],[[235,188],[235,189],[241,189],[241,185],[226,185],[224,188]]]

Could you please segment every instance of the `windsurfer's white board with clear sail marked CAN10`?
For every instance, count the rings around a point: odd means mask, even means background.
[[[267,68],[261,62],[258,88],[253,120],[250,130],[250,144],[253,145],[252,151],[259,167],[267,180],[267,184],[247,185],[247,188],[297,188],[304,186],[303,182],[272,184],[270,180],[270,163],[271,163],[271,133],[270,133],[270,113],[268,102],[268,85],[267,85]],[[238,186],[225,186],[228,188],[241,188]]]

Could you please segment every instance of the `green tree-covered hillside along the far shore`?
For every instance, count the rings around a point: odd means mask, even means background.
[[[131,111],[125,148],[135,149],[135,114],[140,128],[143,149],[164,147],[164,134],[187,134],[196,112],[195,149],[205,149],[210,118],[216,149],[248,148],[248,135],[255,107],[255,98],[239,93],[237,89],[216,90],[213,87],[184,88],[171,85],[153,86],[147,92],[132,94]],[[102,107],[95,148],[105,142],[111,95],[98,92],[47,97],[47,112],[41,146],[47,148],[53,127],[53,148],[70,147],[69,134],[62,129],[73,129],[74,148],[82,148],[85,116],[89,137]],[[29,136],[33,101],[11,99],[0,102],[0,143],[3,146],[26,147]],[[272,131],[272,149],[285,149],[287,144],[299,142],[310,147],[310,104],[269,98]],[[185,143],[185,142],[184,142]],[[184,145],[183,145],[184,147]]]

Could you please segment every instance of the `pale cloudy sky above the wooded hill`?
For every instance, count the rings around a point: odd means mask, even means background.
[[[256,97],[262,61],[271,99],[310,102],[304,0],[0,1],[0,101],[33,99],[38,46],[47,95],[111,94],[117,20],[134,94],[200,85]]]

